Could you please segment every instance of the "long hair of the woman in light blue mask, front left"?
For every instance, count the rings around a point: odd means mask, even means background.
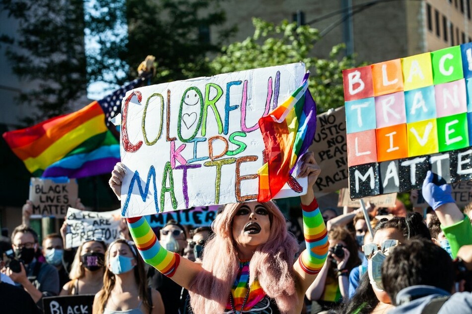
[[[118,239],[112,242],[108,246],[108,250],[105,253],[105,274],[103,275],[103,288],[99,292],[98,296],[98,302],[97,302],[97,313],[103,313],[105,311],[105,307],[107,305],[108,298],[111,296],[111,292],[113,288],[115,287],[116,279],[115,279],[115,274],[108,269],[108,259],[110,258],[110,249],[111,247],[116,244],[116,243],[125,243],[130,247],[130,250],[133,254],[133,256],[136,259],[136,265],[133,269],[133,272],[135,274],[135,280],[136,284],[138,285],[138,292],[139,296],[141,297],[142,304],[144,307],[147,309],[147,311],[150,312],[152,309],[151,306],[151,300],[150,296],[148,294],[148,288],[147,288],[147,279],[146,275],[144,273],[144,262],[142,261],[141,257],[136,254],[136,247],[129,243],[128,241],[124,239]]]

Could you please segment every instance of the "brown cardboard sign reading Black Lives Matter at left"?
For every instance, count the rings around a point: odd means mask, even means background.
[[[67,209],[75,206],[78,196],[77,181],[66,177],[31,178],[29,200],[33,203],[33,215],[64,218]]]

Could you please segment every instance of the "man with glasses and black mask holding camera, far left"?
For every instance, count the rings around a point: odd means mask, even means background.
[[[43,297],[56,296],[59,292],[59,274],[57,269],[38,262],[35,255],[38,250],[38,234],[26,225],[20,225],[11,234],[12,248],[20,260],[19,272],[8,267],[6,274],[16,284],[29,293],[39,308],[42,308]]]

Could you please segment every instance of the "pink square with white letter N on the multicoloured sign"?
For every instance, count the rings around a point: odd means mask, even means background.
[[[434,86],[437,117],[467,112],[465,80],[438,84]]]

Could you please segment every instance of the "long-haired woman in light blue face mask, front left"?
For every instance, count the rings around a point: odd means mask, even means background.
[[[158,291],[146,284],[144,262],[135,245],[118,239],[105,254],[103,288],[95,295],[93,314],[162,314],[164,304]]]

